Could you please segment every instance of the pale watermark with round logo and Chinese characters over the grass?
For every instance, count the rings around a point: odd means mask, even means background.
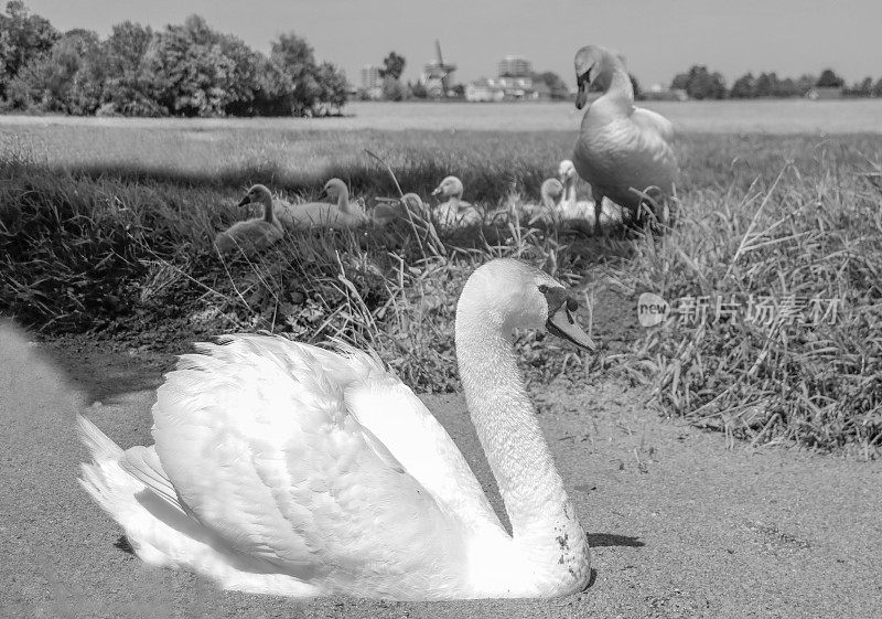
[[[637,320],[649,328],[668,318],[677,324],[750,323],[759,327],[835,324],[842,310],[841,299],[785,295],[686,296],[673,302],[652,292],[637,300]]]

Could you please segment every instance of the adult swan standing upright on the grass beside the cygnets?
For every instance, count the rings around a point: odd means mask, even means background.
[[[633,215],[641,195],[654,190],[664,201],[674,192],[679,175],[669,140],[674,128],[663,116],[634,106],[634,89],[622,58],[604,47],[589,45],[576,54],[579,86],[576,107],[582,109],[591,84],[601,95],[585,111],[573,151],[579,175],[591,184],[595,221],[609,198]]]

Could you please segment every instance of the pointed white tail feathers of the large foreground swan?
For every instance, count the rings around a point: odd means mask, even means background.
[[[321,589],[266,561],[243,555],[187,515],[153,447],[122,450],[95,424],[77,415],[77,434],[93,461],[79,484],[125,531],[144,563],[194,572],[225,589],[316,596]]]

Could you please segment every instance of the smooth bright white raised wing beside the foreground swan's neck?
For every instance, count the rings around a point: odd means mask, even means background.
[[[456,444],[407,385],[377,372],[352,383],[345,397],[358,421],[443,508],[472,525],[502,527]]]

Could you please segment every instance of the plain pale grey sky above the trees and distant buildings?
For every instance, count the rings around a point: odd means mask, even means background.
[[[153,28],[198,13],[208,24],[268,52],[294,31],[319,61],[361,84],[365,64],[405,56],[416,81],[441,41],[455,82],[494,77],[499,60],[524,55],[572,86],[582,45],[623,53],[647,87],[665,85],[693,64],[719,71],[731,86],[747,71],[779,77],[831,67],[851,84],[882,77],[882,0],[25,0],[60,30],[101,36],[131,20]]]

